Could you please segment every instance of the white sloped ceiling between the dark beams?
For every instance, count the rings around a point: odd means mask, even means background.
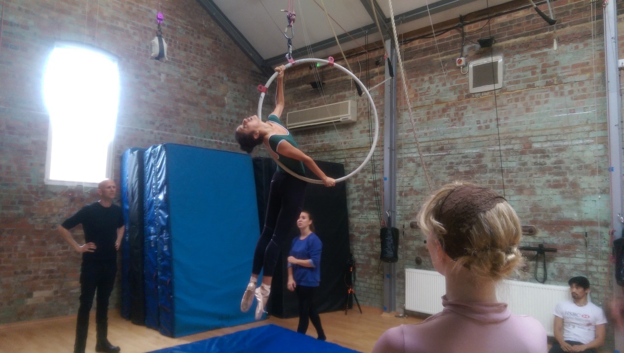
[[[341,39],[343,51],[364,46],[364,29],[369,29],[369,42],[381,39],[373,19],[373,9],[381,11],[381,17],[391,27],[389,21],[392,11],[396,22],[396,31],[402,33],[429,27],[432,24],[456,19],[460,15],[502,4],[509,0],[374,0],[377,6],[371,6],[371,0],[290,0],[294,6],[296,21],[293,26],[292,41],[295,59],[314,57],[324,59],[340,52],[334,39],[334,32]],[[198,0],[209,13],[222,12],[225,23],[230,22],[225,30],[235,42],[243,42],[253,48],[259,57],[256,64],[264,62],[273,66],[285,62],[281,57],[288,51],[287,39],[283,32],[288,24],[286,12],[289,0]],[[527,0],[528,3],[528,0]],[[211,7],[217,7],[217,10]],[[367,7],[370,11],[367,11]],[[292,9],[292,7],[291,7]],[[328,17],[325,14],[326,9]],[[213,14],[214,16],[214,14]],[[218,21],[219,22],[219,21]],[[223,22],[221,21],[222,27]],[[238,32],[237,34],[235,32]],[[348,32],[348,34],[346,34]],[[290,35],[290,31],[288,32]],[[238,37],[236,37],[238,36]],[[351,37],[355,39],[351,39]],[[323,44],[323,45],[320,45]],[[239,42],[240,45],[240,42]],[[297,50],[304,52],[296,52]],[[312,51],[311,53],[308,53]]]

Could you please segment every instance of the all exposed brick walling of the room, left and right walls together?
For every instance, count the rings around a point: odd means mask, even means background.
[[[167,4],[160,10],[165,14],[163,34],[170,60],[158,62],[148,59],[157,12],[152,2],[107,1],[99,8],[89,2],[88,9],[85,1],[4,2],[0,322],[77,310],[80,259],[54,227],[95,196],[89,188],[43,184],[48,117],[41,77],[56,39],[86,42],[119,56],[122,96],[115,155],[162,142],[238,150],[233,128],[241,116],[255,112],[255,87],[266,78],[196,1],[176,1],[170,8]],[[397,72],[399,308],[404,302],[404,268],[432,269],[424,236],[409,228],[430,193],[419,154],[434,189],[452,180],[472,180],[505,194],[522,223],[537,227],[537,234],[525,237],[522,245],[544,243],[558,249],[547,254],[548,284],[565,284],[583,274],[592,281],[595,302],[602,303],[610,293],[602,17],[592,23],[585,2],[561,0],[553,5],[559,20],[556,34],[532,9],[494,17],[487,26],[486,21],[466,26],[466,32],[483,27],[467,36],[467,44],[491,35],[496,39],[493,54],[504,56],[505,86],[495,95],[468,92],[467,75],[454,64],[462,41],[457,31],[402,47],[412,116]],[[622,15],[618,18],[622,32]],[[557,51],[552,50],[555,35]],[[374,64],[381,55],[371,53],[368,62],[363,55],[349,59],[361,79],[369,68],[369,87],[383,80],[383,65]],[[475,46],[464,52],[469,61],[489,55]],[[345,163],[350,171],[369,150],[368,107],[344,74],[330,68],[320,72],[326,82],[324,95],[311,89],[314,77],[307,67],[289,70],[288,109],[356,99],[359,120],[294,133],[313,158]],[[383,87],[371,95],[382,122],[375,164],[369,163],[346,183],[351,248],[358,263],[356,292],[361,304],[381,307]],[[266,95],[263,109],[271,109],[272,97]],[[115,178],[118,171],[116,162]],[[517,277],[535,281],[534,254],[527,256],[530,269]],[[420,266],[417,257],[422,258]]]

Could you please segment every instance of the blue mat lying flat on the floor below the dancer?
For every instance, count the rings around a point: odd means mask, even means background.
[[[319,341],[273,324],[212,337],[180,346],[159,349],[151,353],[204,353],[204,352],[358,352],[338,344]]]

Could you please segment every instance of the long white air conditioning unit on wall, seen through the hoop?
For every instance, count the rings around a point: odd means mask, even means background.
[[[358,118],[358,105],[355,100],[345,100],[321,107],[301,109],[286,114],[286,127],[300,128],[311,127],[326,123],[356,122]]]

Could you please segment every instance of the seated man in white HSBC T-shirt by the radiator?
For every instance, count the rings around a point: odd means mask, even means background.
[[[596,352],[605,342],[605,312],[587,301],[589,280],[583,276],[568,281],[572,301],[555,307],[555,339],[549,353]]]

